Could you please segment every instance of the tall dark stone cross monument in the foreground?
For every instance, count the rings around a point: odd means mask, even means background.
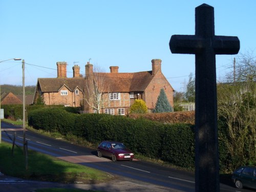
[[[173,35],[172,53],[196,55],[196,191],[220,191],[217,127],[217,54],[237,54],[238,37],[216,36],[214,8],[202,4],[196,8],[196,34]]]

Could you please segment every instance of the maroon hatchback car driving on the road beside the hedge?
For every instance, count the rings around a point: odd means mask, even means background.
[[[115,141],[102,141],[98,146],[98,157],[110,157],[112,161],[133,160],[132,151],[125,148],[125,145]]]

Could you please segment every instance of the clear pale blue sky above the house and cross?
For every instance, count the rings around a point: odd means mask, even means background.
[[[0,0],[0,61],[25,59],[25,85],[37,78],[57,77],[57,61],[74,62],[84,74],[89,58],[109,72],[150,71],[151,60],[162,59],[162,72],[176,91],[183,91],[195,56],[172,54],[174,34],[195,34],[195,8],[215,8],[215,34],[238,36],[240,52],[256,48],[256,1],[97,1]],[[254,51],[255,53],[255,51]],[[217,55],[217,79],[236,55]],[[22,85],[21,61],[0,62],[0,83]]]

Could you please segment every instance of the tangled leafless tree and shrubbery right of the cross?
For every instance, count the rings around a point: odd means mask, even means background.
[[[228,150],[229,170],[256,162],[256,62],[252,55],[240,54],[236,72],[227,73],[226,81],[217,87],[218,117],[222,121],[220,139]]]

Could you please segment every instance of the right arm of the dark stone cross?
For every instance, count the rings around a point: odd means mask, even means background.
[[[213,47],[216,55],[238,54],[240,41],[234,36],[215,36]]]

